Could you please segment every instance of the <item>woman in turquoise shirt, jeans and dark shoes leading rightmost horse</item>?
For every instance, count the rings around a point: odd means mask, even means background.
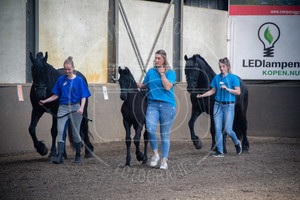
[[[241,94],[239,78],[230,71],[228,58],[219,60],[221,73],[216,75],[211,82],[211,89],[204,94],[198,94],[197,98],[208,97],[216,93],[214,104],[214,121],[217,139],[217,151],[214,157],[224,157],[223,134],[224,131],[231,137],[235,144],[236,153],[242,152],[241,142],[237,139],[232,129],[234,120],[235,96]]]

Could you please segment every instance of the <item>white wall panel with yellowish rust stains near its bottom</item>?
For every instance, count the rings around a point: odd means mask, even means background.
[[[55,68],[73,56],[89,83],[106,82],[107,12],[108,0],[40,0],[39,51]]]

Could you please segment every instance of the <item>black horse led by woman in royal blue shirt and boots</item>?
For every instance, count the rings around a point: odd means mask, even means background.
[[[43,53],[39,52],[36,55],[36,58],[33,57],[32,53],[30,53],[30,59],[32,62],[31,74],[33,83],[30,90],[30,101],[32,105],[31,112],[31,122],[29,126],[29,133],[32,137],[32,141],[34,147],[37,152],[41,155],[46,155],[48,153],[48,149],[45,144],[38,140],[36,135],[36,126],[39,122],[39,119],[42,115],[47,111],[53,114],[52,116],[52,128],[51,128],[51,136],[52,136],[52,145],[51,152],[49,154],[49,158],[53,159],[56,156],[56,137],[57,137],[57,111],[59,102],[58,100],[53,101],[51,103],[47,103],[42,107],[38,104],[40,100],[44,100],[52,95],[52,89],[56,83],[56,80],[64,75],[64,70],[58,69],[56,70],[53,66],[47,63],[48,53],[46,52],[45,57]],[[83,80],[87,83],[86,78],[79,72],[75,71],[76,75],[83,78]],[[87,116],[87,107],[88,107],[88,99],[86,101],[84,107],[84,115]],[[46,110],[46,109],[47,110]],[[88,119],[83,118],[81,122],[80,134],[82,140],[85,143],[85,157],[91,157],[94,147],[89,139],[89,130],[88,130]],[[71,128],[68,128],[69,134],[72,134]],[[73,137],[69,137],[70,143],[74,147]]]

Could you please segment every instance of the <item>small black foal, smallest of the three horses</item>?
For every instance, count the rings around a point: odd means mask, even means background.
[[[135,129],[134,144],[136,147],[136,159],[143,161],[143,164],[147,163],[147,145],[148,145],[148,133],[144,132],[144,154],[140,151],[140,138],[143,126],[146,121],[147,110],[147,96],[143,91],[138,90],[137,84],[132,76],[130,70],[126,67],[121,69],[119,67],[118,72],[120,74],[119,84],[121,88],[120,98],[123,101],[121,113],[123,116],[123,125],[126,130],[126,147],[127,156],[125,166],[130,166],[130,129],[131,126]]]

